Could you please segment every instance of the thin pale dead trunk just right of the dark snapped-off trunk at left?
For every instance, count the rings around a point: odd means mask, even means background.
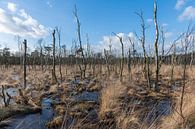
[[[60,71],[60,80],[62,82],[62,60],[61,60],[61,31],[58,27],[56,27],[57,35],[58,35],[58,43],[59,43],[59,71]]]

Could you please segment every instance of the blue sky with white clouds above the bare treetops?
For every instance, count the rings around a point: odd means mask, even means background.
[[[158,23],[165,31],[165,46],[186,30],[189,23],[195,22],[195,0],[156,0]],[[120,48],[116,33],[123,37],[125,49],[131,37],[137,49],[141,45],[140,19],[135,12],[143,11],[147,26],[146,46],[153,47],[155,28],[153,22],[154,0],[0,0],[0,48],[18,50],[16,36],[28,41],[29,50],[52,44],[52,31],[58,26],[61,30],[61,44],[70,49],[78,40],[77,25],[73,15],[77,6],[81,21],[82,42],[86,35],[93,51],[108,49],[110,39],[113,49]],[[147,47],[149,48],[149,47]]]

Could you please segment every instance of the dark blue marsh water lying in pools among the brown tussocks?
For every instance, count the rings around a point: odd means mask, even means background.
[[[18,76],[13,76],[13,79],[19,79]],[[79,79],[75,79],[71,82],[71,85],[78,84]],[[88,80],[84,81],[89,83]],[[74,89],[74,88],[73,88]],[[5,90],[11,96],[18,96],[17,88],[8,88]],[[76,91],[73,91],[76,92]],[[99,102],[100,92],[98,91],[82,91],[72,95],[72,99],[76,102],[83,101],[93,101]],[[0,104],[3,104],[3,101],[0,101]],[[55,116],[54,109],[52,107],[53,100],[51,98],[43,98],[41,103],[41,112],[35,114],[28,114],[24,116],[15,116],[10,119],[7,119],[8,126],[5,129],[47,129],[46,123],[52,120]],[[14,104],[14,100],[11,100],[11,104]],[[152,123],[154,120],[158,120],[161,116],[166,116],[171,113],[172,104],[171,99],[163,99],[158,101],[153,106],[152,110],[149,111],[147,118],[145,119],[147,123]],[[92,113],[94,112],[91,111]]]

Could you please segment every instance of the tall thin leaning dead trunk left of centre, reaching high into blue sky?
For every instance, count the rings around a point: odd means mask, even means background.
[[[84,67],[80,67],[81,78],[85,78],[85,72],[86,72],[87,63],[86,63],[86,59],[85,59],[85,55],[84,55],[83,47],[82,47],[81,23],[79,21],[78,15],[77,15],[76,5],[75,5],[75,11],[73,13],[74,13],[74,16],[75,16],[76,22],[77,22],[77,34],[78,34],[78,40],[79,40],[79,45],[80,45],[79,50],[81,50],[80,52],[81,52],[81,56],[82,56],[82,64],[84,65]]]

